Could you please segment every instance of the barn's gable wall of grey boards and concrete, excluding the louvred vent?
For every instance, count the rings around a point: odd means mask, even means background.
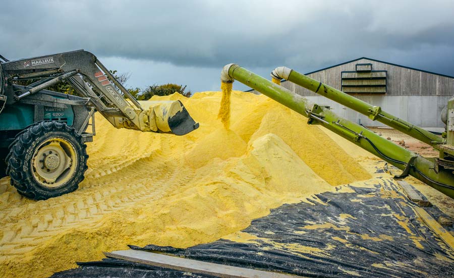
[[[323,71],[308,74],[309,77],[341,90],[341,72],[355,71],[356,64],[372,64],[372,70],[385,70],[386,93],[350,94],[381,106],[383,110],[396,117],[422,127],[444,127],[440,121],[441,109],[447,100],[454,95],[454,78],[407,69],[399,66],[380,63],[368,59],[361,59],[344,65],[339,65]],[[298,70],[298,69],[296,69]],[[328,104],[339,116],[355,123],[368,126],[383,126],[372,122],[367,117],[346,110],[346,107],[323,98],[301,86],[291,82],[282,82],[281,85],[303,96],[310,96],[311,100],[319,104]],[[252,93],[257,93],[251,91]],[[422,117],[424,115],[424,117]]]

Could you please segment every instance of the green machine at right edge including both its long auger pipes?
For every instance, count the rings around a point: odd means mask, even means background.
[[[447,196],[454,198],[454,146],[447,143],[452,140],[450,139],[451,136],[454,136],[454,126],[452,132],[450,132],[449,121],[446,142],[446,140],[440,136],[434,135],[422,128],[416,127],[383,112],[378,106],[372,106],[289,68],[276,68],[271,76],[279,80],[287,79],[313,92],[353,108],[358,112],[369,116],[372,120],[380,121],[390,127],[409,134],[418,140],[430,144],[440,151],[440,157],[426,158],[402,148],[360,125],[337,116],[328,107],[313,103],[309,99],[274,84],[238,65],[226,65],[221,72],[221,81],[233,82],[234,80],[238,80],[305,116],[308,118],[309,124],[322,125],[334,133],[341,135],[347,140],[402,170],[402,174],[396,176],[396,179],[413,176]],[[449,103],[451,105],[449,106],[448,104],[448,111],[451,109],[454,113],[454,100],[451,99]],[[452,123],[452,125],[454,125],[454,123]]]

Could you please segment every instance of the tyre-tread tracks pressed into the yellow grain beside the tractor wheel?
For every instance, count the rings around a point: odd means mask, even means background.
[[[172,153],[168,143],[161,145],[162,151],[125,162],[127,166],[98,178],[88,177],[79,191],[30,202],[23,208],[4,204],[0,218],[0,224],[4,226],[0,256],[3,260],[20,257],[70,230],[108,225],[100,224],[99,220],[137,203],[157,200],[175,186],[187,184],[193,171],[182,169],[179,161],[166,155]],[[49,207],[52,207],[52,212],[46,211]],[[26,215],[33,217],[24,219]]]

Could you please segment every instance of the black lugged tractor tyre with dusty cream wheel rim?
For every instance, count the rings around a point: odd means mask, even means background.
[[[6,172],[11,185],[33,200],[73,192],[88,168],[86,148],[82,136],[65,123],[33,124],[10,145]]]

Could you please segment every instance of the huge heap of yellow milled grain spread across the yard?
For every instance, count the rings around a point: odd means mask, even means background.
[[[370,178],[301,115],[231,94],[230,129],[216,117],[220,92],[152,98],[183,102],[200,123],[185,136],[116,129],[96,115],[89,169],[73,193],[32,201],[0,180],[2,276],[46,277],[127,244],[215,241],[283,203]]]

